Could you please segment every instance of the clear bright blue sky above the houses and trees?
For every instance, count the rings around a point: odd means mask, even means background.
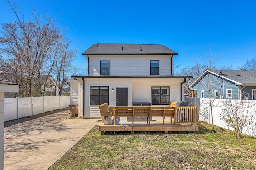
[[[215,66],[234,69],[256,57],[254,0],[16,0],[25,18],[31,10],[60,17],[72,47],[75,64],[86,74],[82,56],[94,43],[163,44],[178,53],[174,71],[204,64],[202,53],[218,57]],[[0,22],[14,21],[0,0]],[[82,69],[84,68],[84,69]]]

